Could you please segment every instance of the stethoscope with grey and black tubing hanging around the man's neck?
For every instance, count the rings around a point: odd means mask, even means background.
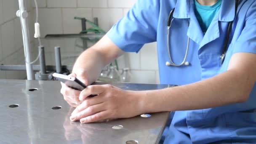
[[[237,6],[238,6],[238,0],[235,0],[235,13],[237,11]],[[184,56],[184,59],[183,61],[181,62],[181,64],[175,64],[172,59],[171,59],[171,52],[170,52],[170,43],[169,43],[169,37],[170,37],[170,29],[171,29],[171,24],[173,22],[173,19],[171,19],[171,17],[173,16],[173,12],[174,12],[175,8],[173,8],[169,14],[169,17],[168,17],[168,23],[167,23],[167,51],[168,51],[168,55],[169,55],[169,59],[170,59],[170,62],[169,61],[166,61],[165,65],[166,66],[176,66],[176,67],[180,67],[180,66],[188,66],[189,65],[189,62],[186,61],[187,59],[187,53],[189,51],[189,37],[187,39],[187,50],[186,50],[186,53],[185,53],[185,56]],[[223,51],[222,51],[222,54],[220,56],[220,59],[221,59],[221,64],[223,64],[223,61],[225,59],[225,56],[226,56],[226,53],[227,53],[227,45],[228,45],[228,42],[229,42],[229,34],[231,32],[231,28],[232,28],[232,24],[233,24],[233,21],[229,21],[229,25],[228,25],[228,28],[227,28],[227,35],[226,35],[226,38],[225,38],[225,43],[223,45]]]

